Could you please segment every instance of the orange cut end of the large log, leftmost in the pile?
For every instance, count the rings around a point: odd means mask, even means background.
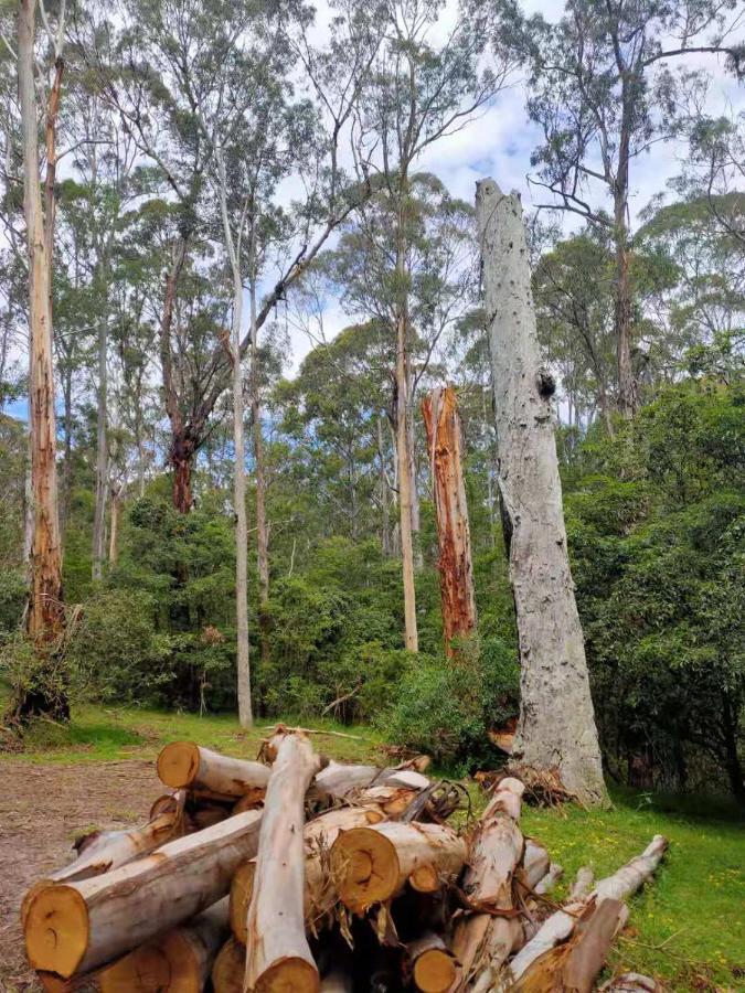
[[[45,886],[32,899],[24,933],[29,962],[34,969],[68,979],[88,947],[88,911],[72,886]]]

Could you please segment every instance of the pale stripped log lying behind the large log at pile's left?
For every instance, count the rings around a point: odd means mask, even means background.
[[[179,837],[185,831],[183,816],[187,794],[180,792],[161,798],[158,811],[151,812],[150,820],[141,828],[130,831],[94,831],[81,839],[77,844],[77,858],[70,865],[39,879],[23,897],[21,904],[21,925],[25,926],[29,907],[42,889],[53,883],[79,883],[100,876],[111,869],[147,855],[156,848]]]

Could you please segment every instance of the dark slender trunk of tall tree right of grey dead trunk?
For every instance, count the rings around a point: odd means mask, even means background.
[[[626,90],[626,84],[624,86]],[[624,93],[618,174],[614,189],[614,237],[616,241],[616,357],[618,362],[618,410],[630,418],[637,412],[637,382],[631,364],[631,286],[629,281],[628,183],[630,153],[630,97]]]

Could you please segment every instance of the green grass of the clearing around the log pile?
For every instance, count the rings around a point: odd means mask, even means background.
[[[81,706],[68,727],[39,722],[23,754],[0,756],[0,770],[4,759],[42,764],[151,759],[168,741],[184,738],[253,757],[274,723],[258,722],[247,732],[232,716]],[[315,730],[353,735],[318,735],[317,748],[333,758],[382,760],[382,738],[371,728],[304,723]],[[540,839],[564,866],[565,882],[556,898],[565,895],[581,865],[592,865],[597,876],[609,874],[638,854],[652,835],[664,834],[670,852],[656,882],[631,903],[629,927],[613,952],[613,968],[656,975],[681,993],[745,991],[745,830],[737,811],[705,798],[618,790],[613,800],[608,811],[525,809],[525,833]]]

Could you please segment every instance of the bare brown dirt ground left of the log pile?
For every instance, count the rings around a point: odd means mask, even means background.
[[[162,793],[151,761],[0,764],[0,991],[41,990],[23,954],[19,907],[45,873],[71,862],[76,835],[147,820]]]

